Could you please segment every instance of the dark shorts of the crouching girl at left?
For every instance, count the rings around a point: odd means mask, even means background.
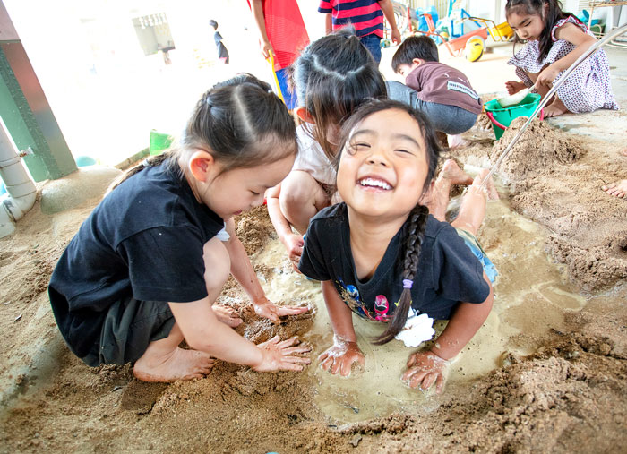
[[[163,301],[127,298],[111,305],[102,324],[99,343],[82,361],[91,367],[137,361],[150,342],[167,338],[175,320]]]

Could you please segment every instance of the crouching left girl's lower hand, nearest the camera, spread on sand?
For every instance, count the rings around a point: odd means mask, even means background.
[[[275,336],[257,345],[262,350],[262,362],[254,365],[253,370],[257,372],[302,371],[303,364],[311,363],[311,359],[296,356],[296,354],[310,352],[312,347],[299,346],[298,342],[298,338],[281,340],[279,336]]]

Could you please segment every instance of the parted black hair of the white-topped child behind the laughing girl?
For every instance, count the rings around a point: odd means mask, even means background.
[[[341,126],[365,99],[386,98],[388,93],[372,54],[352,27],[305,47],[289,74],[299,107],[314,117],[309,133],[331,161],[337,146],[329,141],[329,132]]]

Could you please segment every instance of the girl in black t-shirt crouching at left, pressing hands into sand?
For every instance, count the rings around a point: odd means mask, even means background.
[[[229,271],[257,314],[306,312],[264,295],[233,217],[262,204],[296,157],[294,121],[271,87],[249,74],[207,91],[180,147],[133,167],[90,214],[50,279],[56,323],[90,366],[134,363],[142,381],[209,373],[213,358],[255,371],[300,371],[296,338],[258,346],[212,304]],[[225,231],[226,225],[226,231]],[[189,347],[179,344],[185,338]]]

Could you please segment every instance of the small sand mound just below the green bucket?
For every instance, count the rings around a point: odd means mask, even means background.
[[[527,117],[519,117],[511,122],[500,140],[488,152],[491,162],[496,162],[502,152],[520,131]],[[580,143],[545,122],[533,122],[522,134],[502,162],[499,171],[511,182],[533,176],[540,171],[548,171],[554,163],[569,164],[585,154]]]

